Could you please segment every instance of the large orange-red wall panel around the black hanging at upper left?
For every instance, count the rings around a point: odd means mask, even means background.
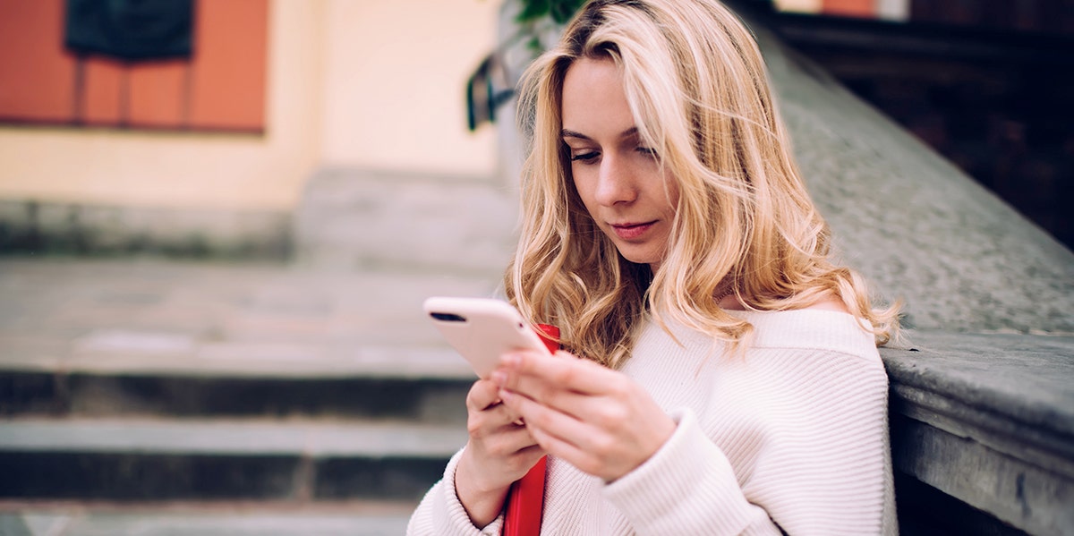
[[[194,56],[127,63],[63,47],[63,0],[0,0],[0,122],[261,131],[267,0],[194,3]]]

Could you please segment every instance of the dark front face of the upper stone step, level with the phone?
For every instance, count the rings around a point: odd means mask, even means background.
[[[445,352],[440,358],[451,366],[465,366],[459,356]],[[469,371],[460,373],[0,368],[0,417],[332,417],[465,423],[466,393],[476,377]]]

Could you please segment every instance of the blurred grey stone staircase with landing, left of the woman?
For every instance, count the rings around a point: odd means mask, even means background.
[[[473,381],[421,301],[494,291],[2,259],[0,534],[401,534],[466,440]]]

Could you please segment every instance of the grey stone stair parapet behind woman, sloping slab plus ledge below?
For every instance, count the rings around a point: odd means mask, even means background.
[[[882,349],[904,534],[1074,534],[1074,253],[749,16]]]

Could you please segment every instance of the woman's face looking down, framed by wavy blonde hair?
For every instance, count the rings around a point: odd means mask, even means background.
[[[575,188],[590,216],[623,257],[656,272],[679,188],[638,136],[615,63],[576,60],[563,81],[561,112]]]

